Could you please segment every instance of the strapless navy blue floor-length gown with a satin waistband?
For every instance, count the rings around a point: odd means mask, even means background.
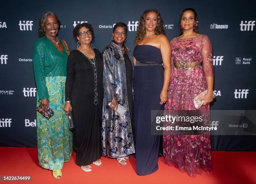
[[[160,93],[164,82],[161,51],[155,46],[138,45],[133,51],[134,118],[136,134],[136,169],[147,175],[158,169],[160,136],[151,135],[151,110],[162,110]]]

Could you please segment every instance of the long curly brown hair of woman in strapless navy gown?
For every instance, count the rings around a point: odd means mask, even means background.
[[[156,29],[155,29],[155,34],[156,35],[160,35],[160,34],[164,34],[165,35],[165,31],[164,31],[164,20],[161,17],[159,11],[155,10],[155,9],[149,9],[144,11],[144,13],[141,15],[140,21],[139,21],[139,25],[137,28],[137,33],[136,33],[136,39],[135,39],[135,45],[138,45],[139,43],[141,43],[141,41],[143,40],[144,36],[146,35],[146,28],[145,28],[145,20],[146,20],[146,15],[149,12],[155,12],[157,14],[157,25],[156,25]]]

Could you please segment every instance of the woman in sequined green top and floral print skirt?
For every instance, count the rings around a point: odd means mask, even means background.
[[[72,154],[72,132],[69,131],[65,105],[68,49],[57,38],[60,21],[45,12],[39,21],[39,39],[34,44],[33,66],[37,87],[37,106],[50,107],[54,115],[47,120],[37,113],[37,147],[39,165],[61,178],[64,162]]]

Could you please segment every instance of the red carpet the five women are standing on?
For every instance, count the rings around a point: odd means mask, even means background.
[[[71,161],[64,164],[62,178],[55,179],[51,171],[38,166],[36,148],[0,147],[0,176],[31,176],[31,181],[0,183],[31,184],[256,184],[256,152],[213,151],[213,170],[196,178],[181,173],[177,168],[159,159],[159,170],[147,176],[136,174],[132,157],[128,165],[121,166],[115,159],[102,157],[102,165],[92,164],[92,172],[84,172]]]

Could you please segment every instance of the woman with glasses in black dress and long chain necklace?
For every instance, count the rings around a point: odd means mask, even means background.
[[[103,101],[103,61],[101,53],[92,49],[92,26],[78,24],[73,31],[78,49],[69,54],[66,79],[66,113],[73,112],[73,148],[76,163],[88,172],[91,163],[101,164],[101,117]]]

